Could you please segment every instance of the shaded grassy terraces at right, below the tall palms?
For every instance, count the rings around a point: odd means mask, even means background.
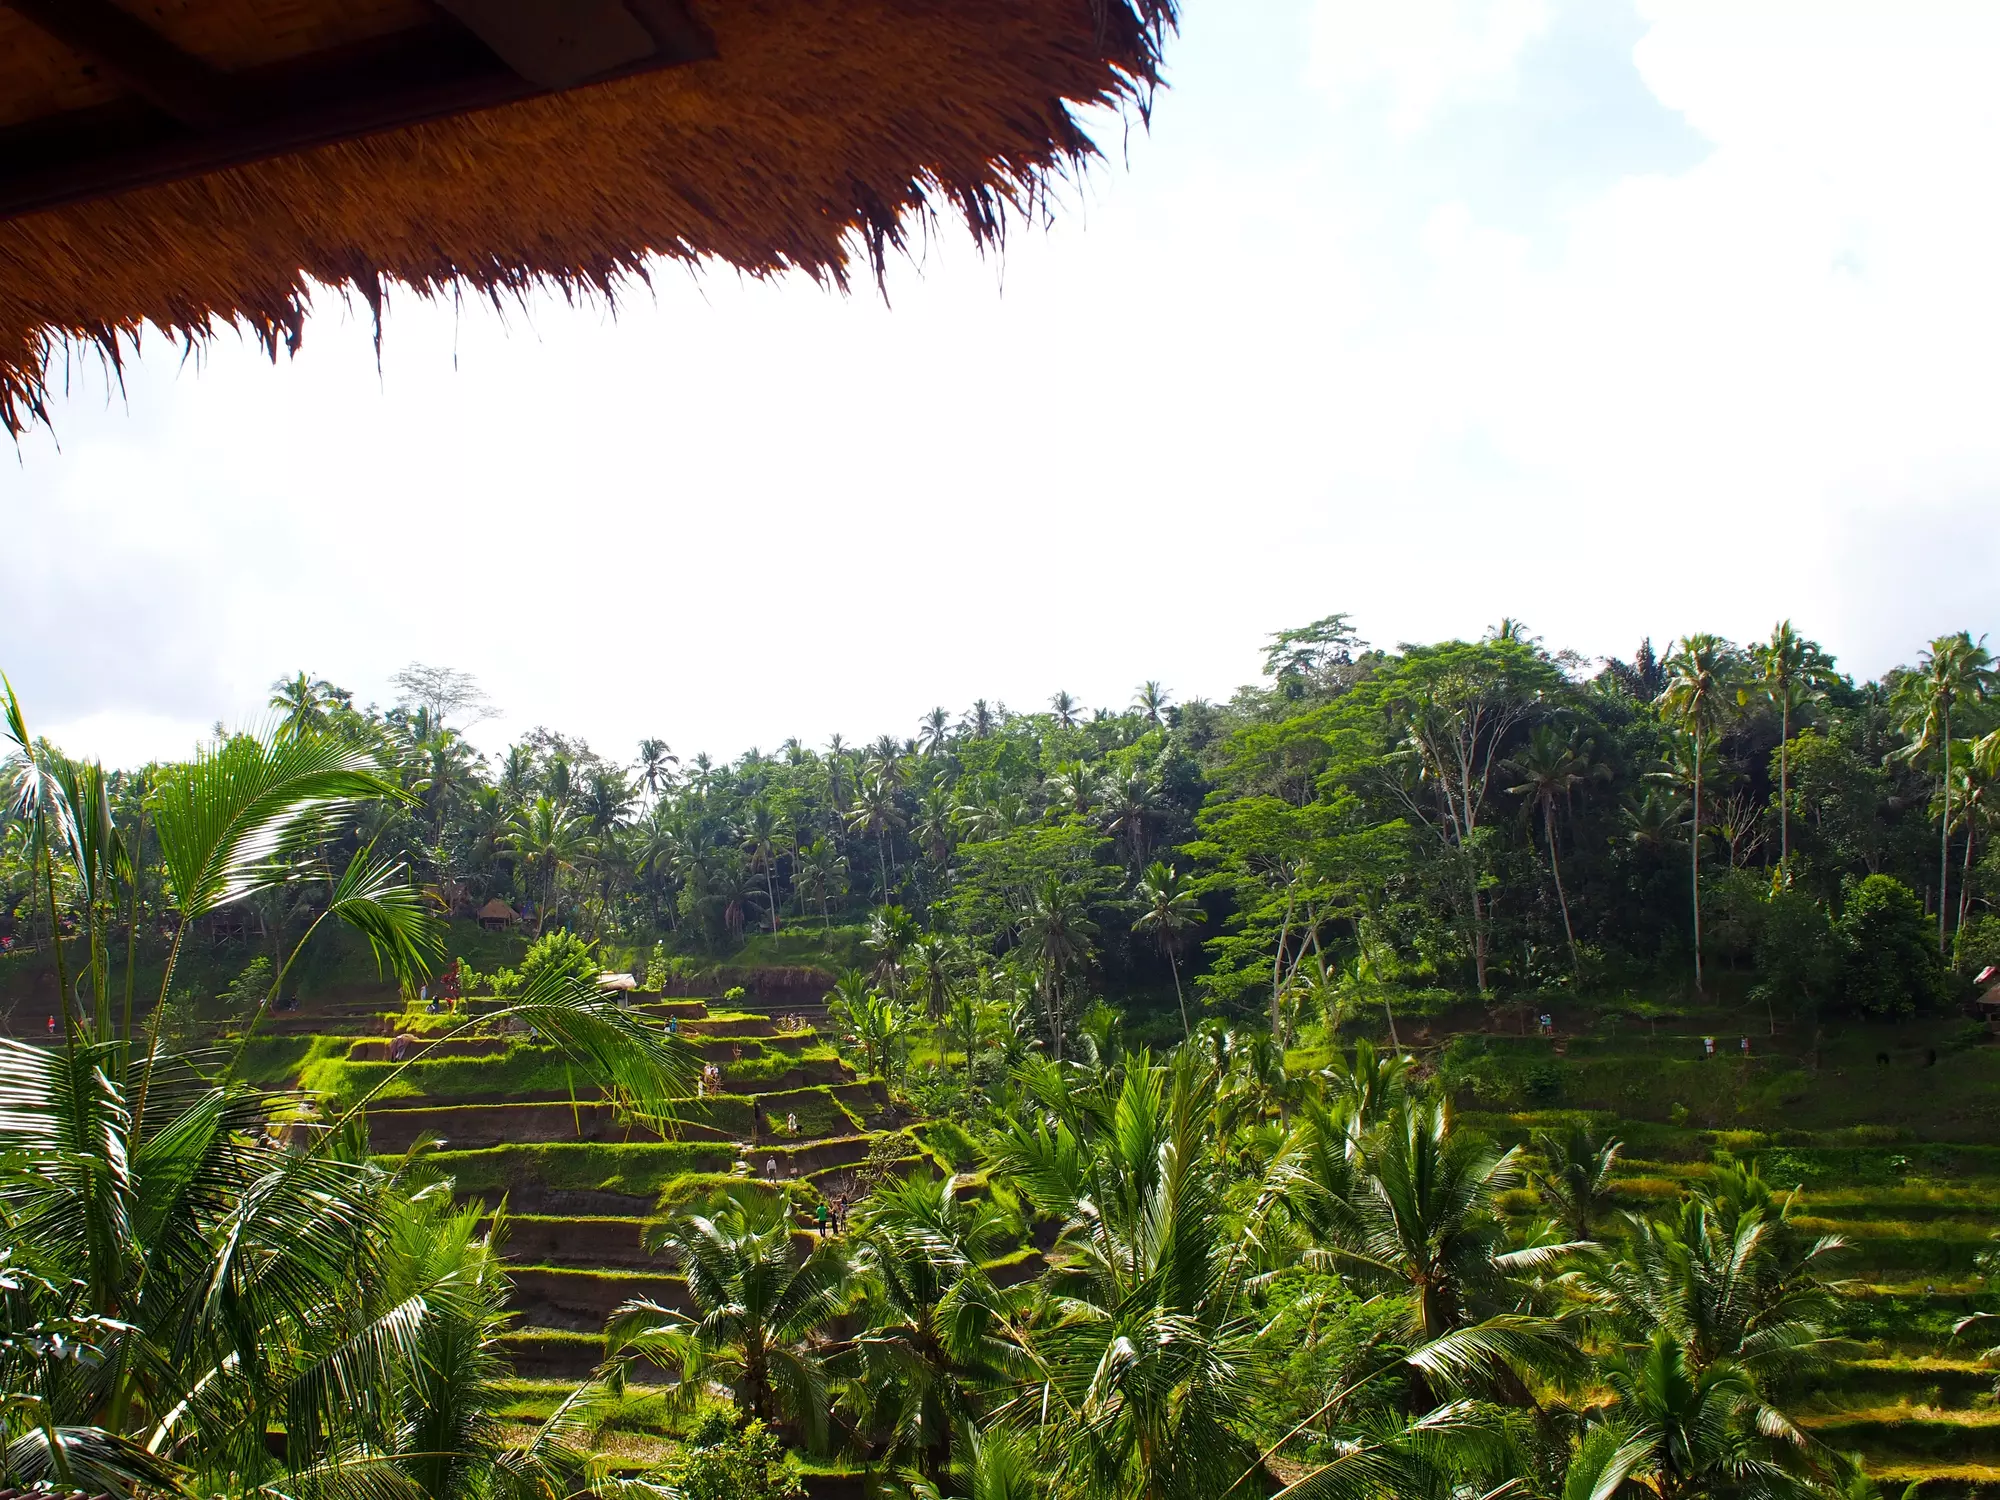
[[[1754,1034],[1744,1056],[1740,1014],[1562,1020],[1584,1034],[1460,1034],[1432,1052],[1460,1070],[1466,1122],[1526,1142],[1588,1112],[1626,1142],[1616,1198],[1632,1210],[1672,1204],[1714,1170],[1716,1150],[1756,1156],[1770,1182],[1798,1190],[1800,1230],[1850,1246],[1836,1262],[1848,1278],[1842,1342],[1790,1394],[1792,1410],[1884,1486],[2000,1496],[2000,1368],[1980,1360],[2000,1322],[1952,1334],[1970,1312],[2000,1312],[1986,1260],[2000,1250],[1994,1048],[1962,1022],[1934,1022],[1854,1026],[1822,1038],[1816,1056]],[[1726,1020],[1736,1028],[1710,1056],[1700,1026],[1716,1034]],[[1494,1096],[1528,1108],[1494,1108]],[[1524,1220],[1542,1212],[1530,1192],[1512,1206]]]

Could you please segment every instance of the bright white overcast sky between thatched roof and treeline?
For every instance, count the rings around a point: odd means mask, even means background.
[[[82,382],[0,468],[32,724],[184,754],[410,660],[628,756],[1122,706],[1348,610],[1876,674],[2000,630],[2000,8],[1186,0],[1150,134],[890,306],[666,272],[326,296]]]

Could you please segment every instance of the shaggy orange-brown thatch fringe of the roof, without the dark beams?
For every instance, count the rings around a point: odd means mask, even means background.
[[[296,350],[314,282],[380,328],[392,282],[616,302],[662,256],[840,288],[862,258],[880,284],[940,212],[998,244],[1098,154],[1078,110],[1144,114],[1176,24],[1174,0],[690,10],[714,60],[0,222],[0,424],[48,422],[72,352],[116,372],[148,326],[198,346],[234,324],[272,358]],[[12,68],[0,110],[20,102]]]

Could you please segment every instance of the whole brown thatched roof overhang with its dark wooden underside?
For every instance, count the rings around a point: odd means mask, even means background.
[[[612,296],[652,256],[880,276],[1144,108],[1174,0],[4,0],[0,422],[144,324],[296,348],[308,282]]]

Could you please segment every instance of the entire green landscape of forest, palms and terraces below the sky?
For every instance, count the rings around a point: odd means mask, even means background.
[[[14,712],[12,1328],[128,1338],[36,1154],[90,1110],[144,1160],[240,1112],[198,1240],[326,1174],[376,1268],[342,1316],[432,1288],[346,1372],[380,1416],[312,1396],[352,1326],[246,1290],[262,1384],[216,1376],[144,1456],[120,1422],[242,1334],[148,1302],[192,1364],[130,1388],[16,1338],[8,1390],[108,1484],[374,1444],[428,1494],[2000,1486],[1970,634],[1856,684],[1790,626],[1592,666],[1330,616],[1226,704],[1054,694],[728,766],[552,732],[488,766],[476,684],[404,678],[376,712],[306,674],[270,734],[116,774]]]

